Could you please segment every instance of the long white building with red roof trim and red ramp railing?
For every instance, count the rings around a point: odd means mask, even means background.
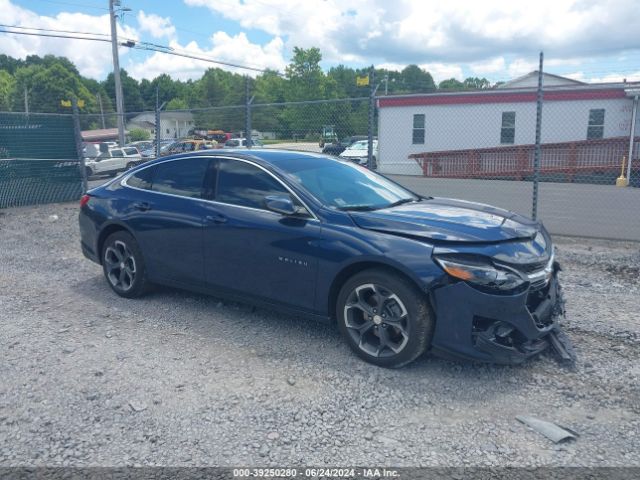
[[[379,98],[380,172],[487,177],[522,170],[524,176],[535,143],[537,77],[531,72],[489,90]],[[619,171],[640,83],[585,84],[550,74],[543,82],[543,169],[615,164]]]

